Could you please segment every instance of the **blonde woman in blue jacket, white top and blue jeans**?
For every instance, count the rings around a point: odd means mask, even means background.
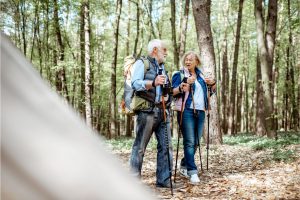
[[[197,145],[200,145],[205,110],[208,109],[207,84],[215,85],[215,81],[204,78],[199,68],[201,63],[197,53],[187,52],[182,57],[181,64],[183,66],[181,70],[174,73],[172,77],[173,94],[177,96],[175,110],[179,111],[178,122],[182,122],[184,158],[181,160],[180,173],[189,177],[190,182],[195,184],[200,182],[195,164],[195,152]]]

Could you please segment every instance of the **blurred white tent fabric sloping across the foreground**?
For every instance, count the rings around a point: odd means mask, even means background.
[[[1,33],[2,199],[154,199]]]

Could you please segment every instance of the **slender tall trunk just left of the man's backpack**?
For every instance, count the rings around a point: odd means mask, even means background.
[[[119,24],[120,24],[120,16],[122,12],[122,0],[117,0],[116,7],[116,21],[114,24],[114,49],[113,49],[113,61],[112,61],[112,73],[111,73],[111,96],[110,96],[110,135],[109,138],[114,138],[117,134],[116,131],[116,111],[117,111],[117,103],[116,103],[116,72],[117,72],[117,57],[118,57],[118,43],[119,43]],[[136,48],[136,47],[135,47]]]

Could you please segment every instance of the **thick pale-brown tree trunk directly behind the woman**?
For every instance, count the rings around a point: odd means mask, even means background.
[[[196,24],[198,46],[201,52],[201,60],[207,71],[215,77],[215,53],[213,48],[213,37],[210,26],[210,0],[193,0],[193,14]],[[222,134],[220,132],[219,115],[216,96],[210,98],[210,143],[221,144]],[[207,133],[204,133],[206,135]],[[207,135],[206,135],[207,138]]]

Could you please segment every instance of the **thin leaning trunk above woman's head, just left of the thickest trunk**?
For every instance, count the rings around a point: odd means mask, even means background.
[[[179,43],[179,57],[181,58],[185,52],[186,45],[186,30],[189,20],[190,0],[185,1],[184,15],[182,19],[181,31],[180,31],[180,43]]]

